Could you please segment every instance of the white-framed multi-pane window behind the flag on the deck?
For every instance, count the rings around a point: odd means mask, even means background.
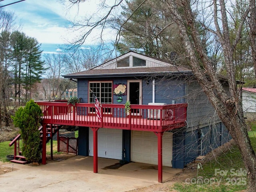
[[[112,104],[112,82],[90,82],[89,90],[92,90],[100,104]],[[92,92],[89,94],[89,103],[93,103]],[[110,109],[105,108],[104,112],[110,112]]]

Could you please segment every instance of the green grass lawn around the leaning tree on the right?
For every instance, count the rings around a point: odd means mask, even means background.
[[[256,151],[256,124],[248,132],[252,148]],[[198,175],[184,182],[177,182],[172,190],[178,192],[234,192],[246,189],[246,170],[237,146],[202,165]]]

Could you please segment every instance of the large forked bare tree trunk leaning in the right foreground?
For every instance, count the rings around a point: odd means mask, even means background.
[[[198,83],[204,90],[206,96],[210,100],[212,106],[215,108],[218,116],[230,132],[232,138],[238,145],[240,153],[242,155],[247,176],[248,176],[248,192],[256,191],[256,158],[254,150],[252,149],[246,124],[244,122],[241,101],[236,87],[235,69],[233,65],[233,50],[229,39],[228,24],[226,21],[226,10],[224,0],[220,0],[221,14],[222,14],[222,28],[220,30],[218,26],[217,18],[217,2],[214,0],[214,14],[215,14],[215,26],[217,34],[222,44],[225,62],[227,66],[227,81],[229,87],[229,94],[226,93],[222,84],[220,83],[217,74],[212,68],[212,64],[208,59],[207,53],[202,47],[200,35],[196,28],[194,16],[190,8],[190,2],[188,0],[182,1],[182,8],[184,8],[184,17],[178,11],[178,6],[175,2],[170,2],[170,10],[173,15],[174,22],[178,25],[180,36],[183,44],[186,48],[188,58],[190,59],[190,66],[193,70],[194,76],[197,78]],[[184,21],[186,23],[184,23]],[[189,26],[189,30],[188,30]],[[189,32],[188,32],[189,31]],[[221,34],[223,33],[223,34]],[[192,42],[191,42],[192,38]],[[199,59],[196,57],[199,55]],[[203,65],[202,70],[200,65]]]

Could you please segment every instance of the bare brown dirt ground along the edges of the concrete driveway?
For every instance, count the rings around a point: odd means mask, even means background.
[[[223,146],[213,150],[209,154],[207,154],[204,158],[204,161],[202,164],[204,164],[207,161],[215,161],[215,158],[219,156],[222,152],[226,152],[227,150],[230,150],[232,146],[234,145],[234,142],[231,140],[230,142],[224,144]],[[73,154],[55,154],[54,159],[51,160],[50,156],[47,156],[47,163],[56,162],[56,159],[68,159],[73,157]],[[34,166],[33,164],[30,164],[30,166]],[[16,170],[16,169],[13,169]],[[12,168],[4,167],[4,163],[0,162],[0,175],[5,174],[8,172],[13,171]],[[164,183],[158,183],[149,187],[139,188],[136,190],[131,190],[130,192],[170,192],[172,189],[172,184],[175,182],[184,182],[186,178],[194,178],[196,176],[196,170],[197,170],[197,163],[190,163],[187,165],[186,168],[182,170],[181,173],[176,174],[174,178],[170,180],[164,181]],[[172,192],[176,192],[175,190],[172,190]]]

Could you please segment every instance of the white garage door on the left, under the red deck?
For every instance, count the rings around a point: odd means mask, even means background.
[[[93,156],[93,131],[89,129],[89,156]],[[122,130],[98,130],[98,157],[122,159]]]

